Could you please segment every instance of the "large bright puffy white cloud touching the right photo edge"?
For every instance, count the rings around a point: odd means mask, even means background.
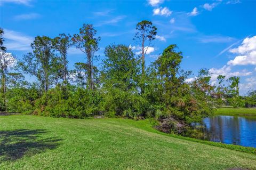
[[[256,65],[256,36],[245,38],[241,45],[230,49],[229,52],[238,54],[234,60],[228,61],[231,66]]]

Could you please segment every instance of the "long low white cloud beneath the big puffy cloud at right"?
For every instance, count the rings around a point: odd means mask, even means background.
[[[212,76],[211,76],[211,80],[212,81],[217,80],[217,77],[219,75],[226,76],[226,78],[229,78],[229,77],[232,77],[232,76],[250,76],[250,75],[252,75],[252,72],[248,71],[246,69],[241,70],[241,71],[231,72],[231,67],[230,66],[226,66],[226,65],[223,66],[220,69],[211,68],[209,70],[209,72],[212,74]]]

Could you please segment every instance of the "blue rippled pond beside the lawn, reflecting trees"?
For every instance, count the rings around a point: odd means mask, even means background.
[[[255,116],[213,116],[203,122],[211,141],[256,148]]]

